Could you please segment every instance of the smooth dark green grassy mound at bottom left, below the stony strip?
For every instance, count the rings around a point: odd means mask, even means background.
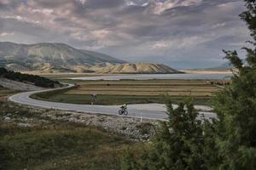
[[[119,169],[122,147],[129,144],[94,127],[67,123],[1,128],[17,133],[0,138],[0,169]]]

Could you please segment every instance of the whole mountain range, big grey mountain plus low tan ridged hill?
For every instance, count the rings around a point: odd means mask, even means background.
[[[0,67],[12,71],[174,73],[167,65],[130,64],[107,54],[73,48],[65,43],[20,44],[0,42]]]

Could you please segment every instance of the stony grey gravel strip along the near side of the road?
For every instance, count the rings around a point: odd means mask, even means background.
[[[109,133],[126,136],[131,140],[147,141],[154,136],[155,128],[159,125],[159,121],[155,120],[43,109],[35,106],[17,105],[6,100],[5,102],[11,105],[11,107],[20,108],[22,111],[26,110],[28,115],[30,115],[29,117],[20,116],[20,111],[4,114],[2,117],[3,122],[15,123],[20,127],[33,127],[38,123],[49,121],[74,122],[82,123],[86,126],[99,127]]]

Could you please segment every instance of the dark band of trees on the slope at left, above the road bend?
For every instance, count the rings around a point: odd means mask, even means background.
[[[0,67],[0,77],[8,78],[19,82],[32,82],[35,86],[42,88],[55,88],[55,85],[60,85],[60,82],[49,80],[45,77],[38,77],[29,74],[22,74],[20,72],[8,71]]]

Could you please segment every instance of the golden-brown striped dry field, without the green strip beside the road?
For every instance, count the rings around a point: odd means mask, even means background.
[[[84,81],[65,94],[212,96],[220,88],[205,80]]]

